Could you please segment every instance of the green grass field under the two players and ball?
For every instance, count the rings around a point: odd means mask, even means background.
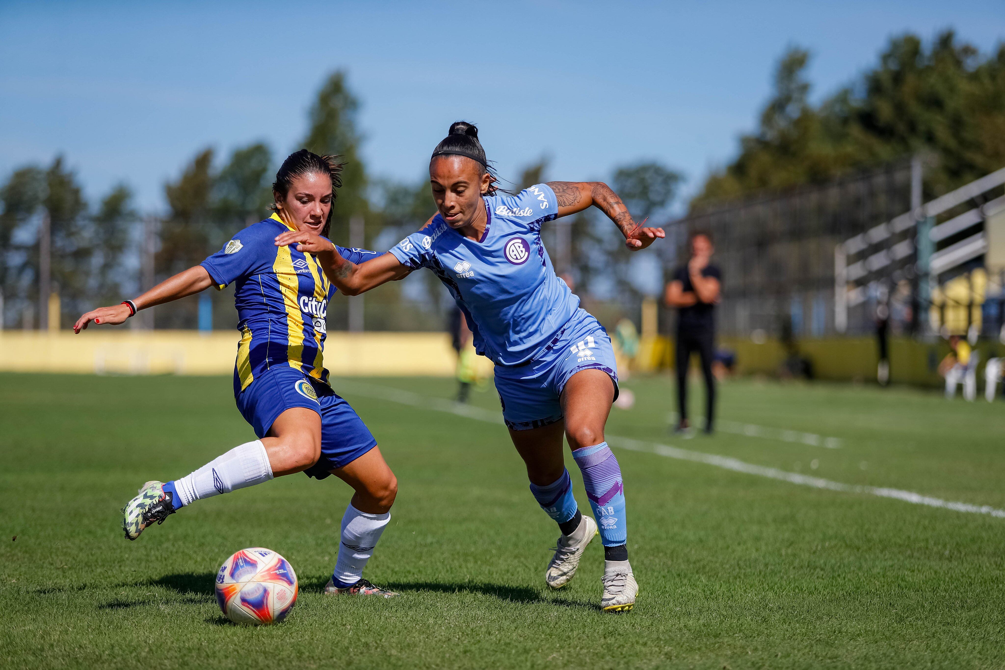
[[[335,386],[400,482],[367,569],[402,593],[393,601],[321,593],[349,497],[334,477],[283,477],[123,538],[119,509],[146,479],[187,474],[253,438],[229,378],[0,375],[0,666],[1005,667],[1005,518],[652,447],[1001,509],[1002,404],[740,380],[722,387],[734,432],[678,440],[666,434],[669,381],[625,383],[637,402],[612,412],[608,435],[638,441],[615,453],[641,595],[615,616],[597,608],[599,542],[567,590],[544,587],[557,529],[492,423],[492,391],[472,394],[481,409],[464,417],[437,400],[451,380]],[[739,434],[745,423],[840,446]],[[255,545],[282,553],[300,580],[278,626],[234,626],[216,608],[216,569]]]

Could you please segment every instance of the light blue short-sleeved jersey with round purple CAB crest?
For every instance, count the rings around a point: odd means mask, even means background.
[[[391,249],[413,269],[428,267],[467,317],[474,349],[496,365],[538,359],[579,311],[579,297],[555,274],[541,226],[558,216],[551,187],[482,198],[480,240],[453,230],[439,214]]]

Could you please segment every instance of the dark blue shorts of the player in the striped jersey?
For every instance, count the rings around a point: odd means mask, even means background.
[[[291,407],[306,407],[321,416],[321,458],[304,471],[309,477],[324,479],[331,470],[352,463],[377,446],[349,403],[324,382],[295,368],[274,366],[237,395],[237,409],[259,439]]]

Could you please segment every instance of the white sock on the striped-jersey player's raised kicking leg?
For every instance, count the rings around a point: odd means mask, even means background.
[[[268,454],[261,440],[234,447],[201,468],[176,479],[175,490],[182,504],[209,498],[245,486],[253,486],[272,478]]]

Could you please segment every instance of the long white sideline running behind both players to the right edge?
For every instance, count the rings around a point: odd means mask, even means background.
[[[455,414],[468,419],[474,419],[475,421],[504,424],[502,416],[497,412],[490,412],[488,410],[471,407],[469,405],[461,405],[442,398],[420,396],[410,391],[402,391],[401,389],[378,386],[375,384],[366,384],[363,382],[349,382],[345,379],[333,380],[333,382],[340,387],[346,388],[352,393],[357,393],[361,396],[367,396],[369,398],[390,400],[402,405],[436,410],[438,412],[447,412],[449,414]],[[687,449],[679,449],[665,444],[642,442],[640,440],[619,437],[617,435],[608,435],[607,443],[611,446],[620,447],[622,449],[657,454],[667,458],[692,461],[694,463],[705,463],[706,465],[714,465],[727,470],[733,470],[734,472],[743,472],[745,474],[768,477],[769,479],[787,481],[790,484],[823,488],[831,491],[841,491],[843,493],[866,493],[868,495],[876,495],[881,498],[894,498],[896,500],[911,502],[916,505],[928,505],[929,507],[941,507],[943,509],[952,509],[958,512],[989,514],[998,518],[1005,518],[1005,509],[998,509],[996,507],[991,507],[990,505],[972,505],[967,502],[943,500],[942,498],[934,498],[928,495],[922,495],[921,493],[915,493],[914,491],[904,491],[898,488],[845,484],[839,481],[823,479],[821,477],[811,477],[809,475],[799,474],[796,472],[786,472],[785,470],[765,467],[763,465],[754,465],[753,463],[747,463],[745,461],[741,461],[736,458],[729,458],[727,456],[707,454],[700,451],[689,451]]]

